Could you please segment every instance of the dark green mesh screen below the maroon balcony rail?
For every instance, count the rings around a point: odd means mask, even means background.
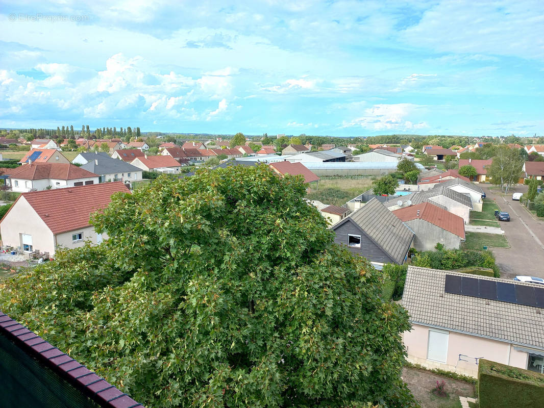
[[[70,382],[0,332],[0,385],[4,408],[100,408]]]

